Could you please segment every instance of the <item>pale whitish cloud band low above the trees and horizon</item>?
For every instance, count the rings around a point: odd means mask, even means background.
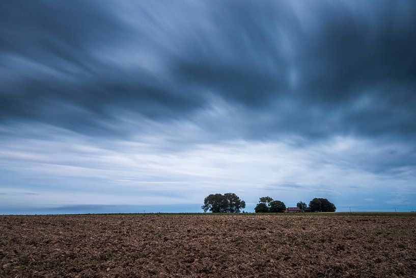
[[[178,127],[188,126],[178,123],[172,129],[178,131]],[[414,167],[382,172],[369,165],[377,165],[385,150],[398,150],[400,145],[343,137],[302,147],[246,140],[184,147],[186,138],[170,143],[175,133],[163,132],[134,140],[104,137],[94,142],[72,132],[48,140],[31,136],[3,140],[7,149],[0,153],[3,179],[24,192],[37,188],[39,193],[8,201],[196,204],[209,193],[225,191],[236,192],[248,203],[272,195],[288,204],[321,196],[348,205],[351,192],[357,191],[387,196],[395,191],[406,203],[414,197]],[[364,151],[371,153],[360,161]]]

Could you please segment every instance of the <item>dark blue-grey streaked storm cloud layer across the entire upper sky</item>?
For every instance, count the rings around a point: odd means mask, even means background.
[[[105,135],[218,97],[247,138],[416,135],[411,2],[0,5],[3,123]]]

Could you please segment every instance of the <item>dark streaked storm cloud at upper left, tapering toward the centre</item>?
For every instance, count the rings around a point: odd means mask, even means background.
[[[111,118],[108,107],[176,117],[171,110],[199,105],[146,69],[126,70],[97,57],[102,47],[115,49],[128,37],[142,37],[140,29],[111,14],[111,7],[98,2],[2,6],[3,120],[27,118],[86,132]],[[140,39],[136,46],[140,51]]]

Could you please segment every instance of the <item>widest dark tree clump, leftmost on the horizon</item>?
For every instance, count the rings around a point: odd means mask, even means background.
[[[236,213],[245,208],[245,201],[241,200],[235,193],[225,193],[224,195],[216,193],[206,196],[201,208],[204,212]]]

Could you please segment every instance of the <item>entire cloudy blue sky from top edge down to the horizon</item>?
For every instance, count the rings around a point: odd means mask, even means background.
[[[0,214],[416,210],[416,2],[0,2]]]

